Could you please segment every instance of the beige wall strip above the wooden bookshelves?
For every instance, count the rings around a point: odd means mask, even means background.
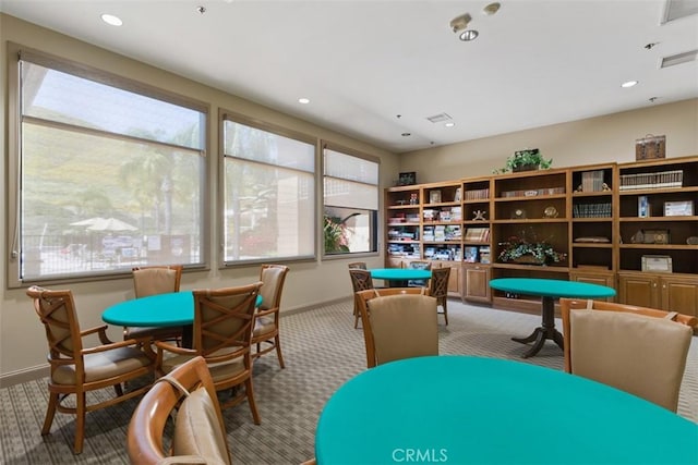
[[[416,171],[420,183],[489,175],[524,148],[539,148],[553,168],[628,162],[647,134],[666,136],[666,157],[698,155],[698,99],[402,154],[400,171]]]

